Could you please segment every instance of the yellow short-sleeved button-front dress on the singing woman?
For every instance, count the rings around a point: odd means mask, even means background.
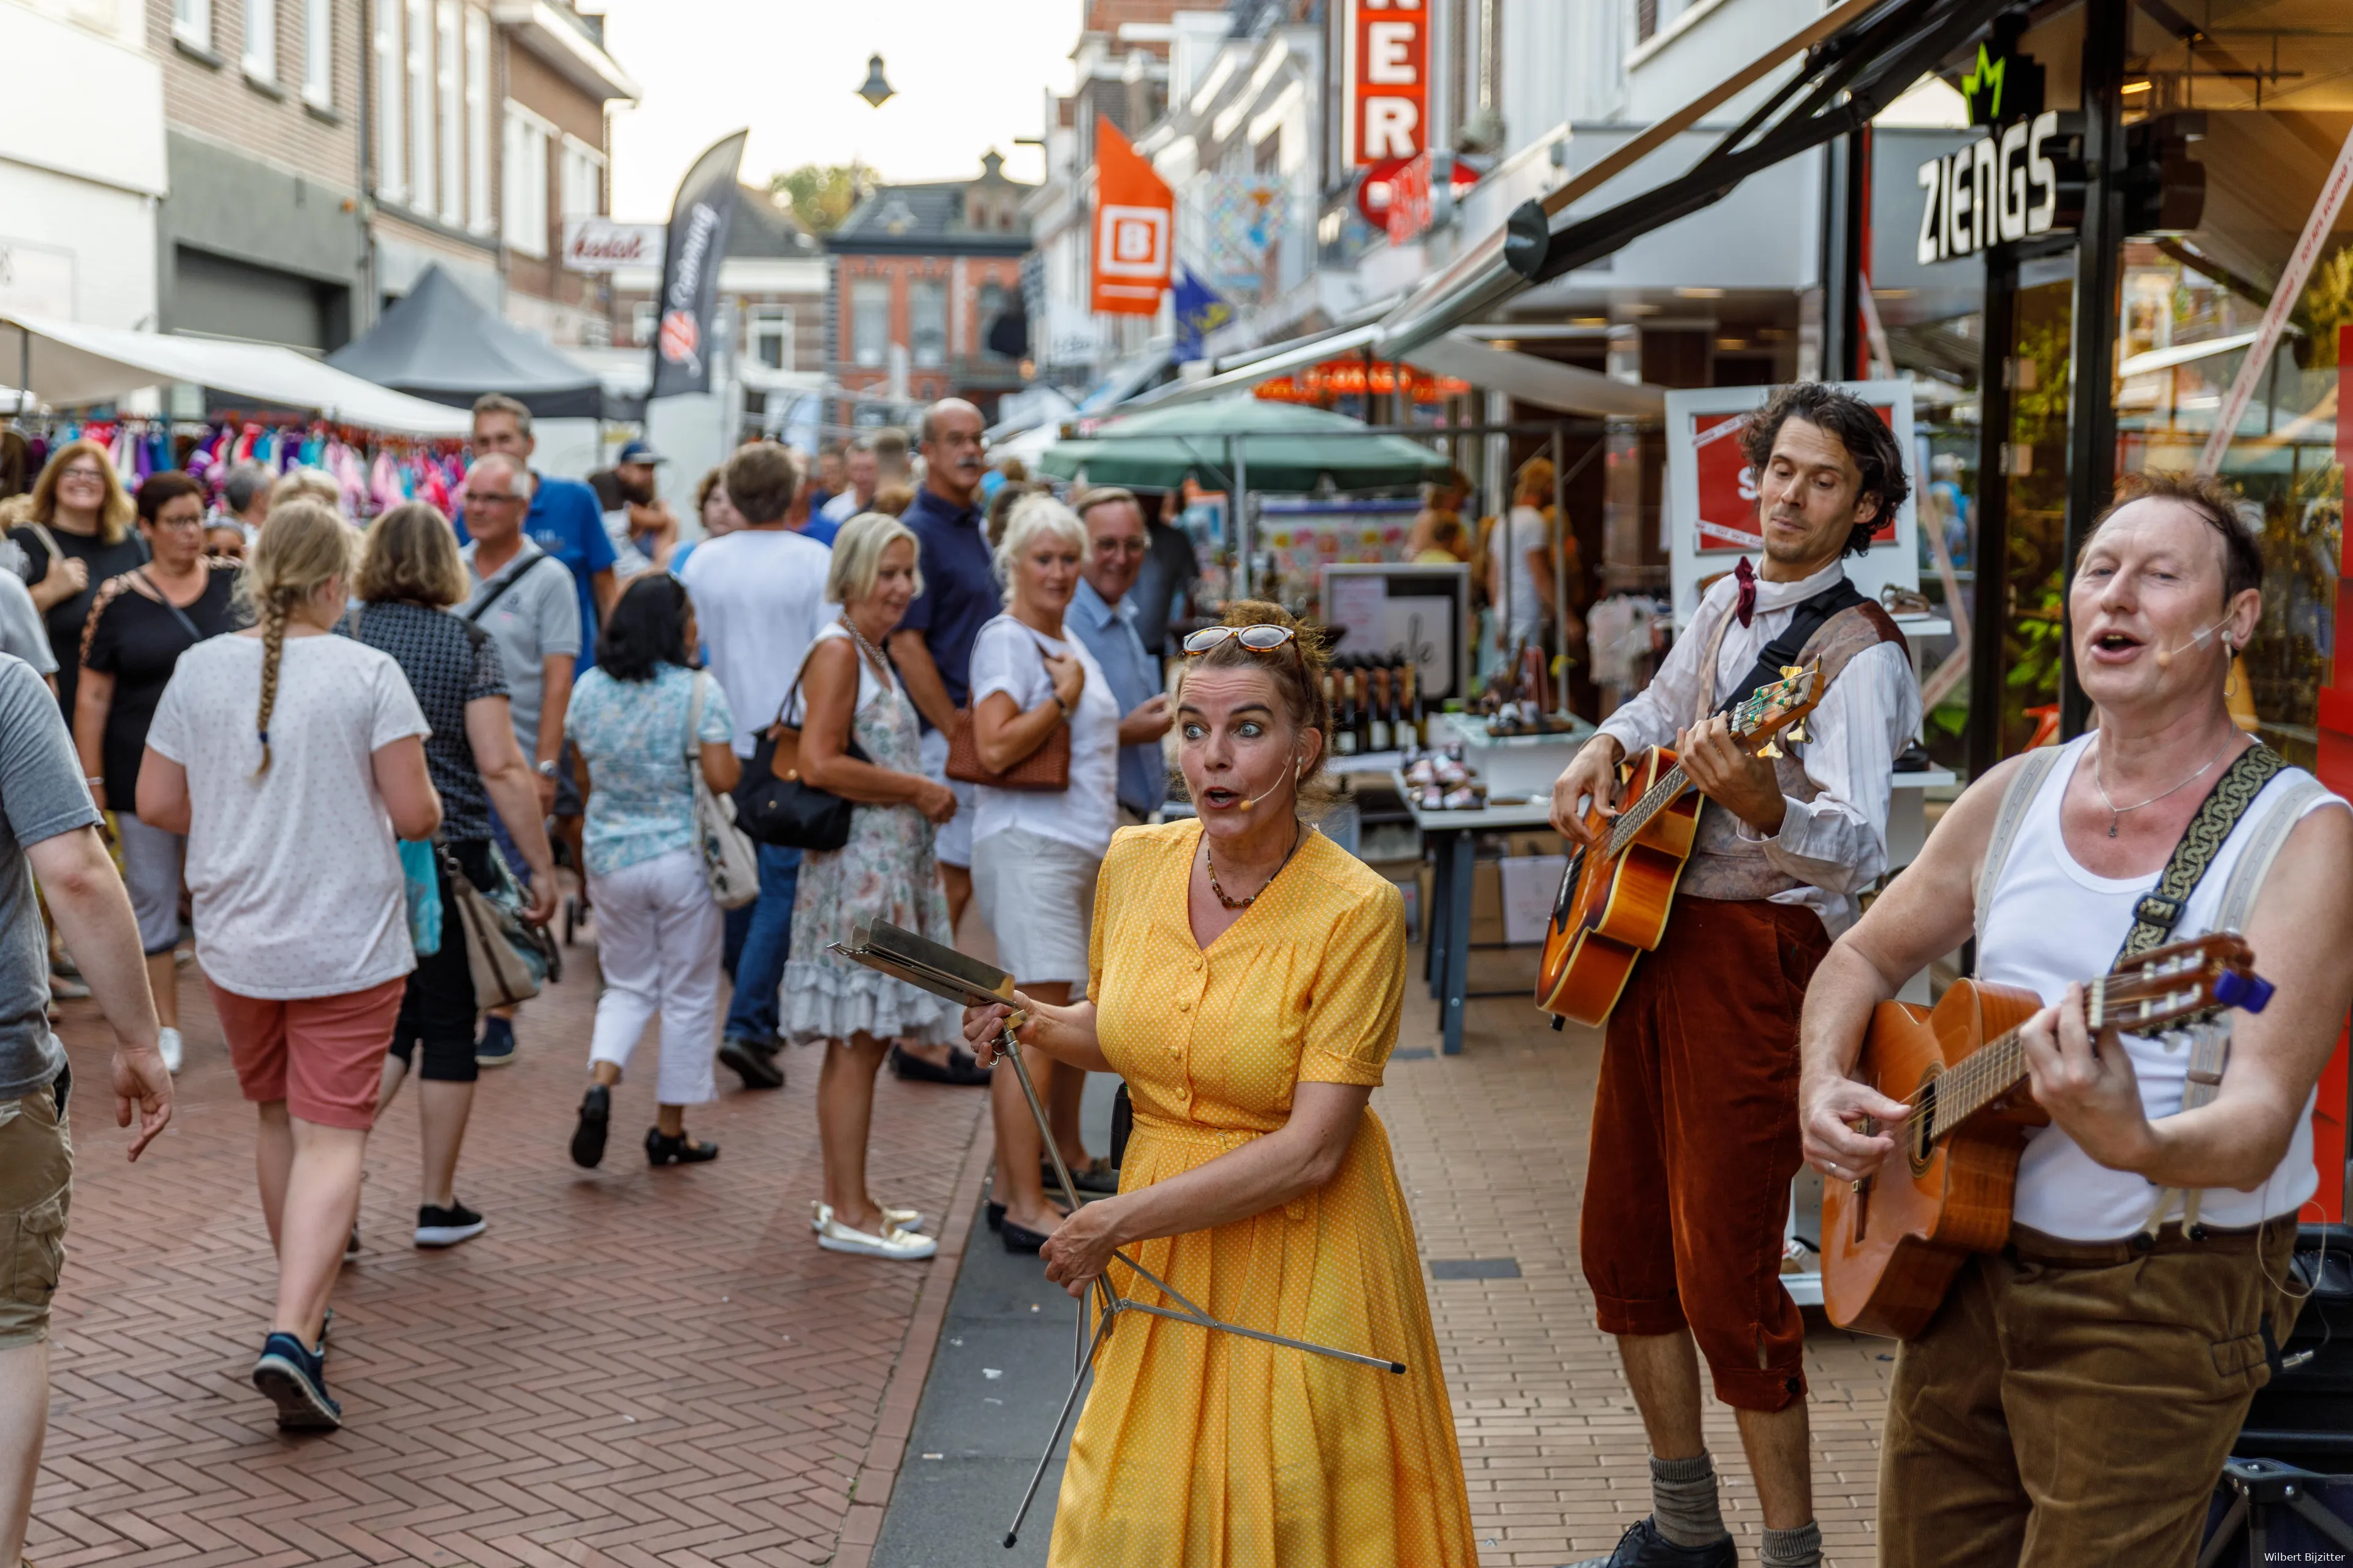
[[[1122,1192],[1280,1128],[1294,1084],[1379,1084],[1398,1044],[1398,889],[1311,832],[1202,950],[1186,917],[1198,844],[1198,823],[1129,827],[1094,896],[1096,1032],[1136,1107]],[[1231,1324],[1407,1373],[1122,1314],[1071,1436],[1054,1568],[1478,1563],[1414,1225],[1377,1114],[1322,1190],[1129,1255]],[[1118,1262],[1111,1281],[1162,1305]]]

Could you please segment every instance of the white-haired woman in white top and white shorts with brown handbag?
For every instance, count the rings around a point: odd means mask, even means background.
[[[1054,496],[1021,496],[995,548],[1007,614],[972,642],[969,755],[953,745],[948,773],[974,773],[972,896],[998,938],[998,966],[1021,990],[1064,1006],[1087,994],[1094,875],[1120,823],[1120,701],[1094,656],[1064,637],[1087,529]],[[1087,1074],[1024,1053],[1047,1100],[1054,1143],[1080,1190],[1115,1192],[1108,1166],[1078,1140]],[[1061,1222],[1047,1204],[1038,1143],[1021,1084],[991,1084],[998,1180],[988,1208],[1005,1248],[1035,1253]]]

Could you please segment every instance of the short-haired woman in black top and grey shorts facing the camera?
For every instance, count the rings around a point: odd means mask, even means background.
[[[172,665],[205,637],[238,630],[238,583],[205,559],[205,487],[184,473],[148,475],[139,487],[139,534],[153,559],[99,585],[82,623],[82,677],[73,703],[73,745],[99,811],[115,813],[122,884],[139,917],[148,990],[162,1025],[162,1065],[179,1072],[179,877],[188,844],[139,820],[139,755]]]

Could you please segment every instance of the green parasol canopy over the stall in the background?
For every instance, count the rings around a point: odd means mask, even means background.
[[[1235,440],[1247,437],[1247,440]],[[1231,489],[1240,468],[1254,491],[1405,489],[1442,477],[1447,458],[1402,435],[1367,435],[1346,414],[1257,397],[1129,414],[1052,447],[1040,468],[1059,480],[1176,489],[1186,477]]]

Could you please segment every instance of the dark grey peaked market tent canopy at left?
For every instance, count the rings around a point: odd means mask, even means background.
[[[438,266],[416,275],[367,336],[344,343],[327,364],[433,402],[471,407],[482,393],[506,393],[536,418],[638,418],[612,397],[605,378],[565,357],[522,327],[485,310]]]

